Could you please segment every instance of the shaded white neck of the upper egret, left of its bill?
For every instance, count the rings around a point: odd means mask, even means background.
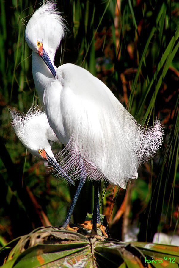
[[[56,70],[55,66],[54,68]],[[46,66],[43,59],[41,59],[41,57],[35,52],[32,52],[32,74],[40,103],[43,105],[44,89],[52,80],[54,80],[54,76]]]

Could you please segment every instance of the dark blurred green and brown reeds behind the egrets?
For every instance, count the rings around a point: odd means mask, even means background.
[[[38,104],[32,51],[25,25],[40,1],[1,1],[0,16],[0,244],[39,226],[59,226],[75,187],[54,178],[15,136],[9,107],[25,113]],[[102,183],[101,213],[110,236],[124,239],[138,228],[139,241],[154,233],[179,233],[178,1],[59,1],[70,32],[55,65],[75,63],[102,80],[142,125],[160,118],[164,142],[139,169],[127,191]],[[58,152],[59,148],[54,148]],[[26,161],[25,161],[26,159]],[[77,183],[76,183],[77,184]],[[74,221],[92,212],[92,183],[86,182]],[[105,193],[105,194],[104,194]]]

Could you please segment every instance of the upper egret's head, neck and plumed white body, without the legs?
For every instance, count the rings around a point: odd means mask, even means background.
[[[40,100],[43,96],[49,124],[69,152],[65,171],[83,166],[81,181],[89,176],[125,189],[161,145],[161,123],[145,130],[90,72],[74,64],[56,68],[54,56],[65,29],[56,2],[50,1],[32,15],[25,31]]]

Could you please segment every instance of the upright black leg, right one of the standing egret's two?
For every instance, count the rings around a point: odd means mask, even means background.
[[[100,190],[101,181],[93,181],[94,186],[94,207],[92,215],[92,229],[97,232],[97,223],[100,224],[100,210],[99,210],[99,190]]]

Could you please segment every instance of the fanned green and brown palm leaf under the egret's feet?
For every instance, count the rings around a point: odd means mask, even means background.
[[[0,251],[3,268],[21,267],[178,267],[178,247],[124,243],[56,227],[38,228]],[[150,262],[151,261],[151,262]],[[173,262],[172,262],[173,261]],[[163,266],[164,265],[164,266]],[[172,265],[172,266],[171,266]]]

